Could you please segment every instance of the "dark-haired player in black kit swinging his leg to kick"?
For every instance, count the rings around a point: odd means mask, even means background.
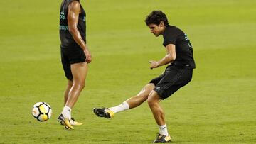
[[[163,35],[163,45],[166,49],[166,55],[161,60],[149,61],[150,68],[167,65],[166,70],[159,77],[146,84],[139,94],[127,99],[122,104],[110,108],[94,108],[93,111],[97,116],[112,118],[114,113],[135,108],[147,100],[159,126],[159,135],[153,142],[166,143],[171,141],[171,137],[167,131],[164,110],[159,102],[188,84],[192,79],[193,69],[196,65],[188,36],[176,26],[170,26],[162,11],[152,11],[149,16],[146,16],[145,22],[156,37]]]

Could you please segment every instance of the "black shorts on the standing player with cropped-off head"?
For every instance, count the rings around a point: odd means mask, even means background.
[[[85,53],[82,48],[60,48],[61,63],[65,72],[65,77],[72,80],[71,64],[85,62]]]

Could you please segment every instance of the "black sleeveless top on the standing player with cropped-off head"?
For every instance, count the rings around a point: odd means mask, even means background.
[[[63,0],[60,6],[60,41],[61,48],[80,48],[80,46],[75,42],[73,36],[68,31],[68,6],[72,1],[76,0]],[[78,31],[82,36],[82,40],[86,42],[86,13],[80,4],[81,13],[78,18]]]

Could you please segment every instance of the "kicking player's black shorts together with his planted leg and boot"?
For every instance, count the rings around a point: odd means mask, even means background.
[[[173,67],[166,68],[166,74],[161,81],[156,84],[154,91],[149,94],[148,104],[151,112],[154,115],[156,123],[159,126],[159,135],[154,140],[154,143],[162,143],[171,140],[167,131],[164,110],[160,106],[161,99],[166,99],[178,89],[188,84],[191,81],[193,70],[188,67]]]

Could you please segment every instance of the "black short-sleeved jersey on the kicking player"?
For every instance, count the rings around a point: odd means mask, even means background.
[[[176,26],[166,26],[163,33],[164,43],[163,45],[173,44],[176,47],[176,60],[171,62],[178,66],[188,66],[191,68],[196,68],[195,61],[193,59],[193,48],[188,40],[186,33],[183,33]]]

